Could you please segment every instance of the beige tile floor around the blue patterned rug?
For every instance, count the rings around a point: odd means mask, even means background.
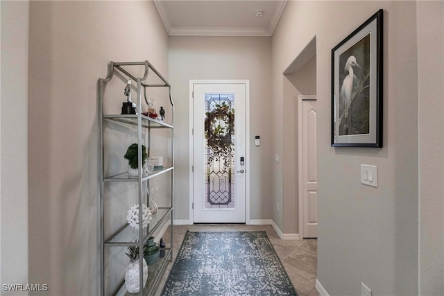
[[[244,224],[195,224],[195,225],[174,225],[173,227],[173,261],[182,244],[187,230],[191,232],[230,232],[230,231],[265,231],[270,238],[273,247],[293,286],[300,296],[318,296],[314,288],[317,274],[317,240],[314,238],[303,240],[283,241],[279,238],[271,225],[244,225]],[[165,232],[164,241],[169,242],[169,230]],[[168,236],[168,237],[167,237]],[[169,263],[158,284],[155,295],[162,293],[162,288],[167,281],[169,270],[173,263]]]

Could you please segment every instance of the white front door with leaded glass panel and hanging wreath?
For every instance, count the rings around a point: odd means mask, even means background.
[[[193,222],[246,222],[246,84],[193,84]]]

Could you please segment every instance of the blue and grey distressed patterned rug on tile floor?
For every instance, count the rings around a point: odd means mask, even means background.
[[[162,295],[298,295],[265,232],[187,232]]]

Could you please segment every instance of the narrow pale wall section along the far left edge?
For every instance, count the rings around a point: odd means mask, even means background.
[[[0,283],[27,284],[29,2],[1,1],[0,10]]]

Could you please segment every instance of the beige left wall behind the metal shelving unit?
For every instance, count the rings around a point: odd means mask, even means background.
[[[152,1],[31,1],[29,24],[29,282],[99,295],[97,80],[111,60],[168,77],[168,36]]]

